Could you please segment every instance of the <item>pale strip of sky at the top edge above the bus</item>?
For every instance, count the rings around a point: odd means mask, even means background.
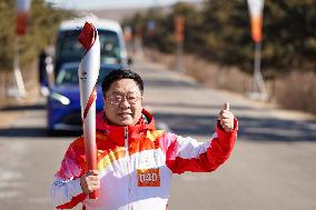
[[[66,9],[115,9],[115,8],[139,8],[166,6],[177,2],[177,0],[46,0],[57,7]],[[179,1],[179,0],[178,0]],[[182,0],[201,1],[201,0]]]

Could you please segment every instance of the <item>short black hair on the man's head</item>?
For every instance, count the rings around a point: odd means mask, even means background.
[[[102,81],[102,92],[106,96],[107,91],[109,90],[112,82],[121,79],[132,79],[136,84],[138,86],[141,94],[144,92],[144,82],[139,74],[131,70],[127,69],[116,69],[112,70],[109,74],[107,74]]]

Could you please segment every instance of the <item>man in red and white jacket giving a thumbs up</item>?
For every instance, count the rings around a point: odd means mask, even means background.
[[[83,138],[68,148],[51,187],[58,209],[82,202],[87,210],[166,209],[172,173],[209,172],[228,159],[237,134],[237,120],[228,109],[218,117],[216,133],[197,142],[155,129],[142,109],[141,78],[115,70],[102,82],[103,112],[97,114],[98,170],[86,166]],[[88,199],[93,190],[97,200]]]

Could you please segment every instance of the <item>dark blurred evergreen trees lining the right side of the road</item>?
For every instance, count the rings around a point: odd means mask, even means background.
[[[276,77],[289,70],[316,71],[315,6],[315,0],[265,0],[261,48],[265,77]],[[180,2],[169,13],[136,14],[125,23],[146,26],[148,20],[155,20],[155,37],[147,37],[144,32],[145,44],[174,52],[174,18],[177,14],[181,14],[186,22],[185,51],[253,73],[254,43],[247,0],[208,0],[203,9]]]

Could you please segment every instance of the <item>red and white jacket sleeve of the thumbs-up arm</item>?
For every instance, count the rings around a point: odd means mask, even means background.
[[[220,124],[217,124],[216,132],[207,142],[197,142],[191,138],[170,136],[166,151],[166,162],[174,173],[185,171],[209,172],[217,169],[230,156],[238,130],[238,122],[235,119],[235,129],[225,132]]]

